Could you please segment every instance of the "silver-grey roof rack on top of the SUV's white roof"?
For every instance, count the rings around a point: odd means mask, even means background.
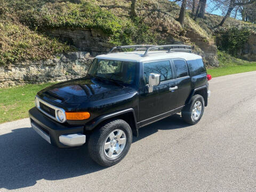
[[[135,49],[138,50],[146,50],[142,57],[146,57],[148,55],[148,51],[150,50],[165,50],[167,49],[167,53],[181,51],[181,52],[189,52],[191,53],[190,45],[125,45],[125,46],[115,46],[108,53],[113,52],[115,49]]]

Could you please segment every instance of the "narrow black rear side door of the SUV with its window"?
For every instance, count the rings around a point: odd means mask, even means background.
[[[178,98],[176,108],[185,105],[187,98],[191,92],[191,77],[188,73],[188,66],[186,60],[173,59],[173,68],[175,71],[175,79],[178,86]]]

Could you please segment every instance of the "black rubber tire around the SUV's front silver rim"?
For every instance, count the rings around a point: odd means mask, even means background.
[[[126,143],[119,156],[116,158],[109,158],[105,154],[103,146],[105,145],[105,141],[109,137],[109,134],[117,129],[122,130],[125,133]],[[88,141],[88,149],[93,161],[102,166],[112,166],[122,161],[128,153],[131,143],[132,130],[130,125],[122,119],[113,119],[112,121],[107,121],[104,124],[101,124],[98,129],[94,130]]]

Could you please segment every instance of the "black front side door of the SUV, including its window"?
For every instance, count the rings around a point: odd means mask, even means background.
[[[139,103],[140,121],[166,113],[177,106],[177,90],[170,91],[170,87],[177,85],[171,62],[171,60],[159,60],[142,63],[143,80]],[[161,75],[160,84],[154,86],[151,93],[148,92],[147,87],[150,73]]]

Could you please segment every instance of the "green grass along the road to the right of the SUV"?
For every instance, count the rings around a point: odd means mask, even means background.
[[[220,62],[219,68],[207,69],[207,73],[211,74],[212,77],[256,70],[256,61],[245,61],[238,59],[222,51],[218,51],[218,60]]]

